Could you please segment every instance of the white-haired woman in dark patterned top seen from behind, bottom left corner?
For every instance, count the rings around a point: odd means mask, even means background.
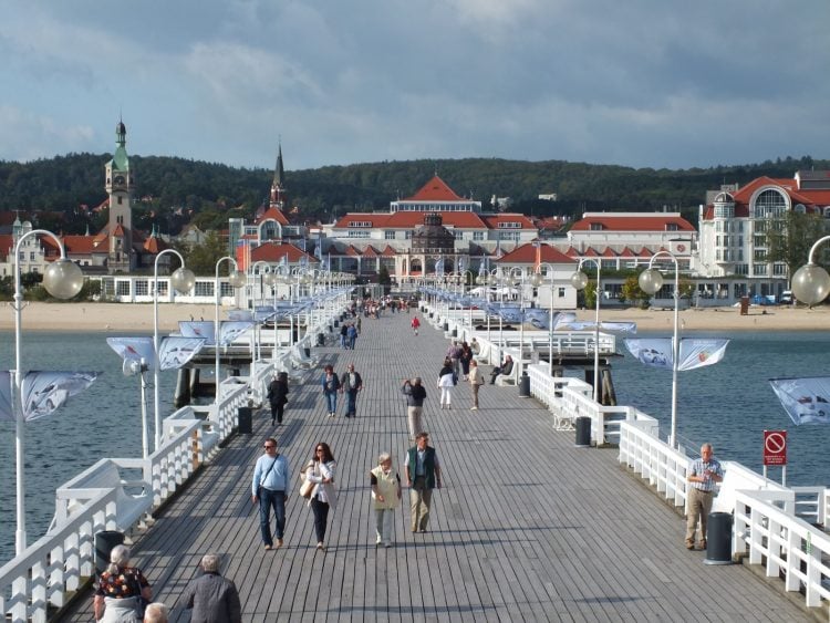
[[[129,548],[115,546],[110,567],[98,579],[93,610],[103,623],[135,623],[144,619],[144,604],[153,599],[153,589],[137,567],[129,567]]]

